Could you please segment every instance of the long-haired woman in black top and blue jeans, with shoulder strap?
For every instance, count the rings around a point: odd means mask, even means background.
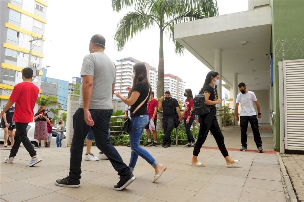
[[[122,99],[122,101],[131,106],[131,123],[130,123],[130,147],[131,147],[131,158],[129,167],[133,172],[136,165],[138,156],[142,157],[148,163],[154,167],[155,182],[161,174],[167,169],[163,164],[158,163],[147,150],[140,147],[140,137],[143,133],[143,128],[149,122],[149,114],[147,110],[147,103],[151,94],[151,85],[147,79],[147,69],[143,63],[137,63],[133,67],[135,74],[133,80],[133,86],[130,90],[128,98],[125,98],[120,94],[116,93],[116,96]]]

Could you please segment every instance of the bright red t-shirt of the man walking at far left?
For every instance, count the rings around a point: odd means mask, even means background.
[[[38,98],[39,88],[32,82],[18,83],[9,97],[16,103],[13,121],[18,123],[33,122],[34,107]]]

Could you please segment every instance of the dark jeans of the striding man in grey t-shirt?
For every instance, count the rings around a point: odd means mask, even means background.
[[[92,127],[95,143],[99,150],[102,151],[112,163],[113,168],[119,173],[121,177],[131,174],[130,167],[123,163],[123,159],[115,147],[110,143],[108,137],[110,118],[113,109],[90,109],[92,119],[95,125]],[[85,123],[84,111],[78,108],[73,116],[74,135],[71,145],[71,159],[70,159],[70,178],[78,180],[81,178],[81,160],[83,152],[83,143],[89,130],[89,125]]]

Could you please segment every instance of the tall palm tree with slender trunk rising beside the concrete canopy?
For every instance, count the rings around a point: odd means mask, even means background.
[[[118,51],[141,31],[154,25],[159,27],[159,62],[157,95],[164,94],[164,32],[175,44],[175,53],[182,55],[184,47],[174,39],[174,23],[208,18],[218,15],[216,0],[112,0],[112,8],[119,12],[132,7],[117,25],[114,40]]]

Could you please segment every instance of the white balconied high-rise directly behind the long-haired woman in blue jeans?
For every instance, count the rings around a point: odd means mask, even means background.
[[[132,74],[133,74],[133,66],[141,62],[132,57],[123,58],[116,60],[116,85],[115,91],[118,90],[122,93],[123,96],[128,96],[127,87],[132,87]],[[156,94],[156,85],[157,85],[157,71],[156,68],[150,66],[146,62],[142,62],[147,68],[147,78],[152,87],[152,91]],[[155,95],[156,97],[156,95]]]

